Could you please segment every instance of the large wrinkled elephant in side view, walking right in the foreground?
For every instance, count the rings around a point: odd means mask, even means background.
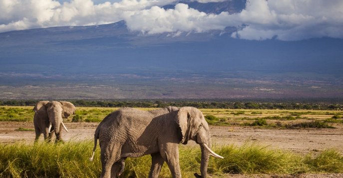
[[[151,155],[149,178],[157,178],[164,162],[173,178],[181,178],[179,144],[195,141],[201,148],[201,175],[207,177],[210,156],[223,158],[211,150],[208,123],[194,107],[166,107],[151,111],[121,108],[107,115],[94,133],[94,148],[99,140],[101,178],[116,177],[123,172],[127,157]],[[120,170],[120,171],[119,171]]]

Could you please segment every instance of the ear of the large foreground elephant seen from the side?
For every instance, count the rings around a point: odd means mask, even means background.
[[[179,125],[181,130],[181,142],[187,144],[190,139],[190,126],[191,126],[191,107],[182,107],[176,116],[176,123]]]

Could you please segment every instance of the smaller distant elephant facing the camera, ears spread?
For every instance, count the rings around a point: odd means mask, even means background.
[[[52,134],[55,133],[55,143],[62,141],[62,127],[68,132],[63,124],[62,118],[68,118],[75,114],[75,106],[67,101],[39,101],[33,108],[33,125],[35,131],[35,142],[40,134],[44,135],[45,141],[51,141]],[[62,127],[61,127],[62,126]],[[53,129],[51,131],[51,129]]]

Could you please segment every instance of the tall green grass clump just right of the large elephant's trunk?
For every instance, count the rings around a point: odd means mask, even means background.
[[[289,174],[301,167],[301,157],[290,152],[271,150],[254,143],[215,149],[224,159],[212,159],[213,173]]]

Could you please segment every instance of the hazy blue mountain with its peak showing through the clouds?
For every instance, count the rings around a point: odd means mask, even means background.
[[[181,2],[207,13],[245,5]],[[236,30],[147,35],[118,21],[2,32],[0,99],[342,98],[342,39],[231,38]]]

